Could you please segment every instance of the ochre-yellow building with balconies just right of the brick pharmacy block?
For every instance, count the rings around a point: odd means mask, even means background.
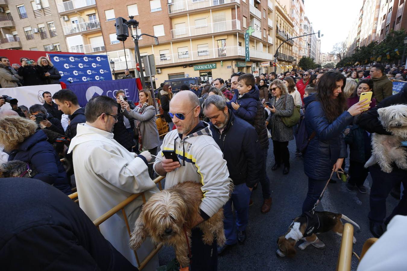
[[[280,46],[287,38],[294,37],[294,24],[289,16],[287,9],[282,7],[280,3],[276,2],[276,48]],[[294,41],[290,40],[282,44],[278,50],[277,72],[281,73],[291,70],[296,60],[293,56]]]

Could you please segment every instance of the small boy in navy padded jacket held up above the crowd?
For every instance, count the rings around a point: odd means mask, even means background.
[[[257,114],[257,101],[260,98],[258,90],[254,87],[255,80],[253,74],[242,74],[238,79],[237,90],[239,96],[237,100],[233,99],[228,107],[232,109],[232,112],[244,119],[249,124],[252,124],[254,117]]]

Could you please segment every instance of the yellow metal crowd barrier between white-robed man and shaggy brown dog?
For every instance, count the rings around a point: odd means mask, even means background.
[[[162,185],[161,185],[161,180],[164,179],[165,177],[160,176],[157,177],[153,180],[153,182],[155,182],[156,184],[158,183],[158,187],[160,190],[162,190]],[[144,193],[138,193],[138,194],[133,194],[129,197],[127,197],[127,199],[123,200],[123,202],[120,202],[119,204],[117,204],[116,206],[114,206],[112,209],[108,210],[105,214],[103,214],[101,217],[98,217],[95,221],[93,221],[93,223],[95,224],[95,226],[99,229],[99,225],[101,223],[103,223],[104,221],[106,221],[107,219],[109,219],[110,217],[112,217],[114,214],[116,214],[117,212],[119,212],[120,210],[123,213],[123,218],[124,218],[124,222],[126,223],[126,227],[127,227],[127,232],[129,233],[129,236],[131,236],[131,230],[130,230],[130,226],[129,226],[129,221],[127,220],[127,215],[125,212],[125,207],[132,202],[134,199],[138,198],[142,196],[143,198],[143,202],[146,203],[146,197],[144,195]],[[72,193],[71,195],[69,195],[68,197],[70,197],[71,199],[75,199],[78,197],[78,192]],[[153,249],[153,251],[150,252],[150,254],[140,262],[137,252],[134,251],[134,255],[136,255],[136,261],[137,261],[137,265],[138,265],[138,269],[142,270],[146,264],[154,257],[155,254],[157,254],[157,252],[161,249],[162,245],[158,245],[155,247],[155,249]]]

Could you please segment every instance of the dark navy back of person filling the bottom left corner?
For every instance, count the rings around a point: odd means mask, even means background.
[[[3,270],[138,270],[55,187],[35,179],[4,178],[0,191]]]

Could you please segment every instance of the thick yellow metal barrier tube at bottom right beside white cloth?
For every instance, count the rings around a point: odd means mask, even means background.
[[[353,226],[350,223],[345,223],[344,233],[342,234],[341,248],[339,249],[339,257],[336,266],[337,271],[350,271],[352,263],[352,248],[353,248]]]

